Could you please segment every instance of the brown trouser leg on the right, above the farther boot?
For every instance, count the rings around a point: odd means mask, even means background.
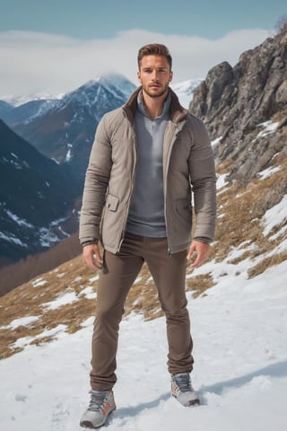
[[[166,315],[169,372],[190,373],[194,360],[186,296],[187,251],[170,256],[166,239],[152,239],[150,243],[147,242],[146,250],[144,258]]]

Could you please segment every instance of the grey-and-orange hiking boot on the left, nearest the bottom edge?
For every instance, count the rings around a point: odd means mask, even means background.
[[[80,427],[99,428],[105,424],[109,413],[116,409],[113,391],[90,391],[91,400],[83,413]]]

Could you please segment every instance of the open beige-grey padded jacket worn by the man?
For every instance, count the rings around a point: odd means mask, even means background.
[[[134,117],[139,87],[117,110],[100,120],[83,189],[80,241],[100,240],[119,251],[133,192],[137,161]],[[170,253],[191,242],[192,192],[195,238],[212,242],[216,217],[213,151],[204,124],[178,102],[170,90],[170,121],[163,143],[163,188]]]

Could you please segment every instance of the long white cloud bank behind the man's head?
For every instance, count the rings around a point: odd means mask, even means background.
[[[76,40],[32,31],[0,32],[0,97],[35,92],[68,92],[106,72],[135,84],[138,48],[160,42],[170,48],[174,83],[204,78],[222,61],[234,66],[239,55],[270,36],[265,30],[232,31],[218,40],[121,31],[109,40]]]

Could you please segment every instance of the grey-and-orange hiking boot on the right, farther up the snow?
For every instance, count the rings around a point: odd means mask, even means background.
[[[180,404],[189,407],[200,404],[188,373],[171,374],[171,394]]]

